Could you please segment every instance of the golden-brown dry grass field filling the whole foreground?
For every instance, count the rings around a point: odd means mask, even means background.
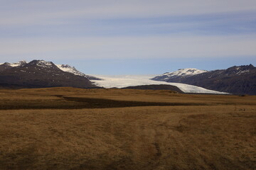
[[[256,96],[0,90],[0,169],[256,169]]]

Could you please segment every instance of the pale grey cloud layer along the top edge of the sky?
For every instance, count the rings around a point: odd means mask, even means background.
[[[213,13],[237,13],[256,10],[255,0],[51,0],[4,1],[1,26],[54,24],[68,18],[147,18]]]

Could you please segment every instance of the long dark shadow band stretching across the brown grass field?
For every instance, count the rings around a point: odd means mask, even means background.
[[[103,98],[80,98],[56,95],[57,100],[0,101],[0,110],[14,109],[80,109],[80,108],[124,108],[135,106],[206,106],[206,103],[163,103],[145,101],[117,101]]]

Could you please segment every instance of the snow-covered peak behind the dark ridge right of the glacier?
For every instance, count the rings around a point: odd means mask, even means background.
[[[208,71],[201,70],[201,69],[193,69],[193,68],[178,69],[176,72],[166,72],[164,74],[161,74],[159,77],[154,77],[154,80],[164,81],[167,79],[178,78],[178,77],[191,77],[193,75],[201,74],[204,72],[208,72]]]

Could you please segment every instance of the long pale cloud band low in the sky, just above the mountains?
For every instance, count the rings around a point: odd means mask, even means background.
[[[256,35],[1,40],[0,56],[61,59],[238,57],[256,55]]]

